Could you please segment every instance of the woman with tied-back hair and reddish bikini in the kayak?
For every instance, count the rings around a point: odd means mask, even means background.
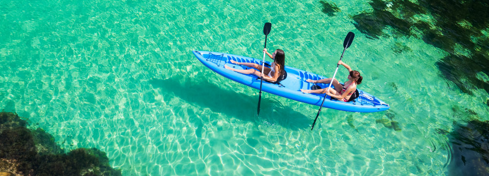
[[[352,94],[356,91],[356,85],[362,83],[363,77],[360,76],[360,73],[356,70],[352,70],[350,66],[348,66],[346,63],[343,63],[343,61],[338,61],[338,64],[343,65],[350,74],[348,75],[348,81],[345,82],[345,85],[341,85],[338,80],[333,79],[333,86],[334,89],[330,88],[330,91],[327,92],[328,88],[324,89],[316,89],[316,90],[307,90],[307,89],[301,89],[302,92],[304,93],[314,93],[314,94],[324,94],[326,93],[327,95],[336,98],[340,101],[345,101],[347,102]],[[312,79],[307,79],[306,81],[312,82],[312,83],[325,83],[329,84],[331,82],[331,78],[326,78],[326,79],[320,79],[320,80],[312,80]]]

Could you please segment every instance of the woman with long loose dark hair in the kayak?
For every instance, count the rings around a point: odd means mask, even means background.
[[[265,53],[267,53],[268,57],[273,59],[273,62],[270,65],[270,68],[264,67],[263,74],[262,74],[262,65],[259,65],[256,63],[237,62],[235,60],[231,60],[231,63],[237,64],[237,65],[244,65],[244,66],[251,67],[254,69],[239,70],[239,69],[231,68],[227,65],[224,65],[224,68],[238,72],[238,73],[242,73],[242,74],[253,74],[253,75],[256,75],[257,77],[263,78],[264,80],[267,80],[270,82],[275,82],[279,78],[280,74],[285,72],[284,71],[285,53],[281,49],[275,50],[275,52],[273,52],[273,54],[268,53],[267,48],[263,49],[263,51]]]

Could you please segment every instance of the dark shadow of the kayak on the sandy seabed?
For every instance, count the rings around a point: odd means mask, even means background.
[[[180,82],[182,81],[182,82]],[[223,89],[207,81],[193,79],[151,79],[150,84],[162,92],[173,92],[176,97],[200,107],[207,107],[238,119],[260,125],[280,125],[291,130],[308,129],[311,119],[270,98],[262,97],[262,113],[256,116],[258,96],[236,93],[232,87]],[[254,90],[254,89],[253,89]],[[257,90],[258,91],[258,90]],[[272,127],[274,128],[274,127]]]

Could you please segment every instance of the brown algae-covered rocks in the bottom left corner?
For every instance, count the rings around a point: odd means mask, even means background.
[[[0,113],[0,174],[19,176],[120,176],[98,149],[65,153],[44,130],[28,129],[14,113]]]

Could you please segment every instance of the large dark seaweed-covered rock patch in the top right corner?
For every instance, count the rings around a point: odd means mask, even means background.
[[[448,55],[437,61],[442,76],[462,92],[489,93],[489,2],[484,0],[372,0],[373,12],[353,16],[355,27],[369,39],[409,36],[440,48]],[[409,48],[395,49],[397,53]],[[485,102],[484,102],[485,103]]]

